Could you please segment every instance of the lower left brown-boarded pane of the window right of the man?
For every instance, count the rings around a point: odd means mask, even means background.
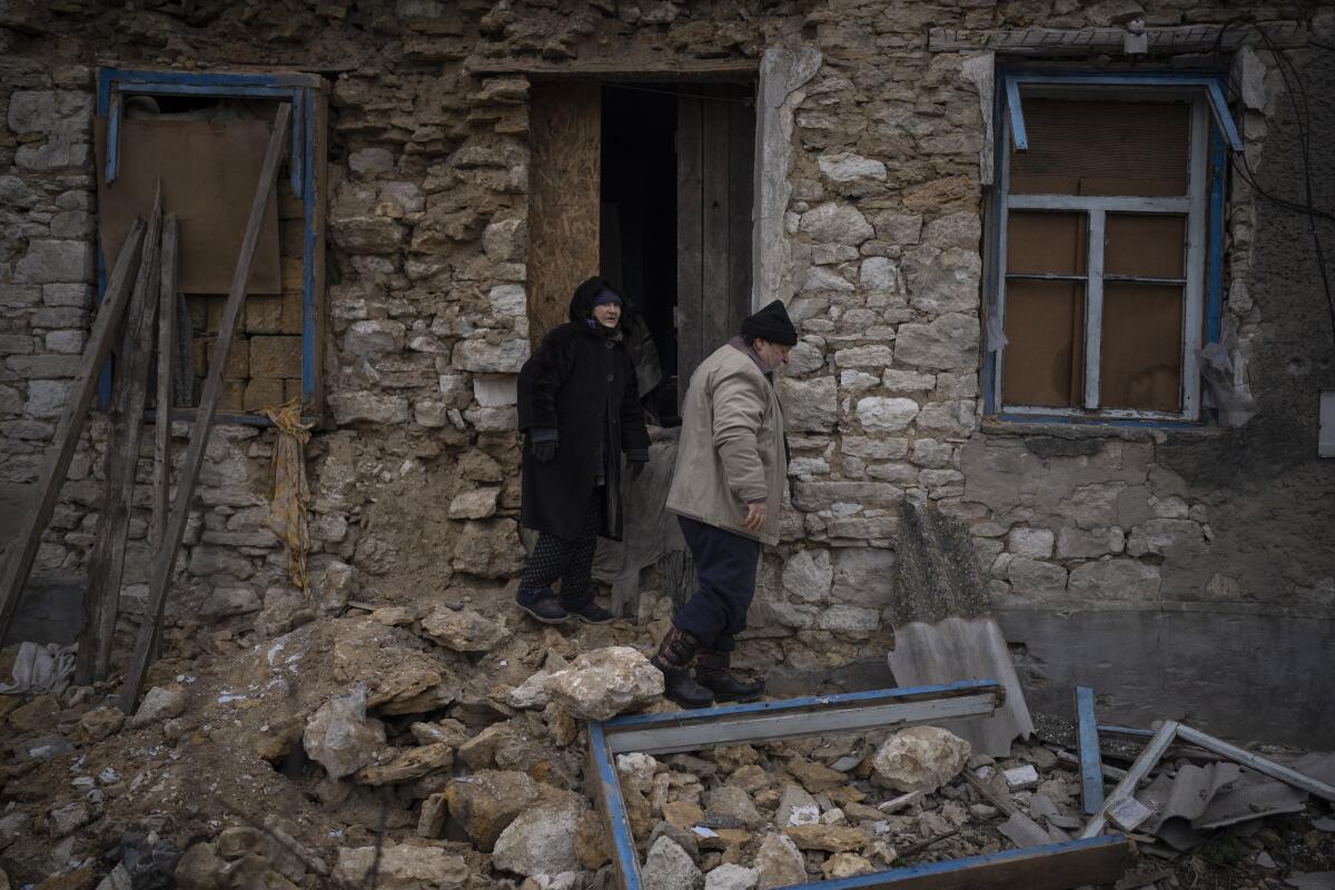
[[[1005,406],[1064,408],[1084,398],[1084,283],[1008,279]]]

